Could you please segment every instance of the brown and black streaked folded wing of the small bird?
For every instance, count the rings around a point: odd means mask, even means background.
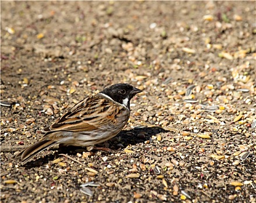
[[[97,95],[87,97],[63,114],[54,124],[45,128],[44,131],[93,131],[104,125],[115,124],[117,122],[116,115],[124,110],[121,105],[118,106],[104,97]]]

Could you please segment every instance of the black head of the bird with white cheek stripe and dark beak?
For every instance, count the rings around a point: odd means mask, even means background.
[[[130,109],[130,99],[137,93],[142,92],[140,89],[134,88],[126,83],[119,83],[111,85],[108,88],[104,89],[100,93],[111,97],[115,102],[124,104],[127,108]]]

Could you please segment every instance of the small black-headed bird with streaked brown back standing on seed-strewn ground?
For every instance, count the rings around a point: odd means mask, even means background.
[[[51,126],[37,143],[13,156],[23,164],[54,144],[94,146],[116,136],[130,117],[130,100],[140,89],[125,83],[109,86],[81,100]],[[97,147],[95,147],[97,148]],[[98,147],[99,148],[99,147]]]

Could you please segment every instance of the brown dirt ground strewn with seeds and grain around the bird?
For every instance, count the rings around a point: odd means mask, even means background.
[[[1,202],[255,202],[255,14],[255,1],[1,1]],[[10,159],[119,82],[143,93],[99,145],[113,153]]]

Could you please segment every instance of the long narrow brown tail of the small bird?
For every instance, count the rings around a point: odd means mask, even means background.
[[[56,144],[56,141],[54,140],[41,140],[24,150],[22,150],[19,154],[14,155],[13,159],[19,159],[22,164],[25,164],[28,162],[34,155],[37,155],[41,151],[45,150],[48,147],[51,147],[52,145]]]

